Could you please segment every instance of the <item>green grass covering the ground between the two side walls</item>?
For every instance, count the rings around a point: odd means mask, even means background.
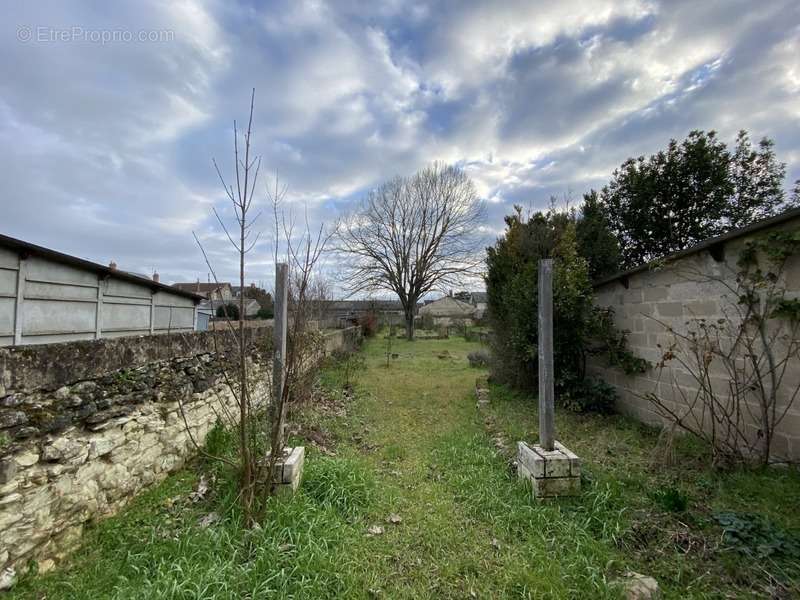
[[[385,340],[370,340],[346,414],[297,415],[300,435],[324,431],[335,455],[309,446],[301,491],[271,499],[260,528],[242,530],[229,508],[231,475],[198,464],[91,527],[70,561],[26,576],[9,597],[618,598],[613,581],[626,570],[656,577],[667,598],[765,595],[770,575],[798,593],[796,562],[723,549],[714,520],[756,513],[796,535],[796,471],[709,471],[689,439],[664,466],[656,432],[557,411],[559,439],[583,459],[583,492],[533,500],[509,458],[516,440],[535,440],[535,403],[495,385],[479,414],[484,372],[466,360],[476,347],[393,340],[399,357],[387,368]],[[321,380],[337,397],[335,366]],[[210,443],[231,440],[217,432]],[[201,472],[217,475],[213,493],[192,503]],[[221,520],[201,527],[211,511]]]

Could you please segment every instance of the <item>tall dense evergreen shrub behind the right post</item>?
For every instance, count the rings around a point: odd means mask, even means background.
[[[556,394],[572,410],[610,412],[614,391],[599,381],[586,380],[590,348],[607,352],[613,364],[625,361],[626,371],[646,363],[626,349],[625,336],[609,315],[592,305],[589,266],[579,253],[576,217],[549,210],[530,218],[506,217],[506,231],[487,251],[486,291],[492,334],[492,375],[523,391],[538,384],[538,267],[554,259],[553,351]],[[603,318],[600,318],[603,317]],[[630,364],[629,364],[630,363]]]

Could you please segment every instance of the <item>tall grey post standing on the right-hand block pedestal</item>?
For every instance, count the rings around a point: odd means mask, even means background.
[[[553,259],[539,261],[539,445],[553,450]]]

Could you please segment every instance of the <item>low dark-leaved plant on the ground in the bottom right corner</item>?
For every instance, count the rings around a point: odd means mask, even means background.
[[[761,515],[717,512],[723,543],[731,550],[756,558],[800,560],[800,539]]]

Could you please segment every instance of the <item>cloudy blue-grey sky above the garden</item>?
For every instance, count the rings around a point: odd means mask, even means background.
[[[0,232],[166,281],[206,279],[192,231],[234,276],[211,159],[232,172],[253,87],[264,168],[314,223],[438,159],[491,238],[695,128],[769,136],[800,178],[796,0],[4,0],[0,55]]]

